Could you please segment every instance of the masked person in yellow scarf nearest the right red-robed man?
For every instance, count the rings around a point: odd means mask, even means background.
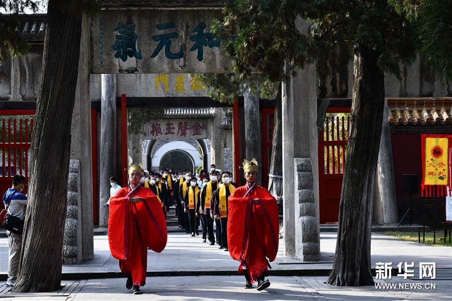
[[[221,240],[220,248],[223,247],[225,251],[228,251],[228,197],[234,192],[235,185],[231,184],[231,178],[229,173],[224,171],[221,174],[223,184],[212,193],[213,215],[215,221],[220,221],[220,233]]]

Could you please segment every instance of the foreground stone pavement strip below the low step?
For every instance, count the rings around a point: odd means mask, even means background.
[[[275,276],[264,291],[246,289],[243,276],[148,277],[142,295],[124,287],[124,278],[65,281],[66,287],[50,293],[19,294],[0,287],[0,300],[450,300],[449,280],[432,281],[435,289],[388,290],[375,286],[331,287],[323,277]],[[407,280],[410,281],[410,280]],[[381,282],[381,281],[380,281]],[[255,287],[255,285],[254,285]],[[3,291],[2,291],[3,290]]]

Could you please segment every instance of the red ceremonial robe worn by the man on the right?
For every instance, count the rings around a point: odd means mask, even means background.
[[[244,265],[254,282],[261,275],[268,276],[268,261],[276,258],[279,216],[276,199],[267,189],[254,185],[244,197],[247,191],[246,185],[238,187],[228,198],[228,248],[231,257],[240,261],[238,271]]]

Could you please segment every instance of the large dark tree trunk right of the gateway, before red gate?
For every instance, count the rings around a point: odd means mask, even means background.
[[[336,254],[327,283],[371,285],[371,224],[374,180],[384,108],[384,76],[379,53],[354,48],[351,129],[339,206]]]

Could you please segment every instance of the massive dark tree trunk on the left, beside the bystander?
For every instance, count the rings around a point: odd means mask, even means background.
[[[15,292],[60,288],[70,128],[81,34],[81,16],[67,12],[71,3],[48,2],[41,88],[30,152],[29,200]]]

